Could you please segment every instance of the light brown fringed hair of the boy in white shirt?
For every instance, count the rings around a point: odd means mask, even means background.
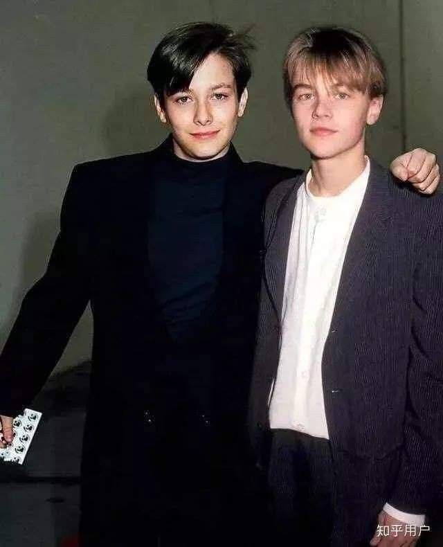
[[[320,72],[332,82],[368,92],[370,98],[388,91],[386,68],[377,49],[365,35],[351,28],[311,27],[289,45],[283,65],[284,98],[291,108],[293,77],[311,80]]]

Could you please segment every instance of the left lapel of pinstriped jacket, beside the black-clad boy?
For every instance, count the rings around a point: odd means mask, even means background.
[[[293,184],[283,195],[280,204],[273,213],[269,231],[265,240],[264,278],[269,290],[269,298],[280,322],[282,319],[282,303],[284,293],[284,278],[291,239],[293,213],[296,208],[297,191],[305,181],[305,174],[293,179]]]

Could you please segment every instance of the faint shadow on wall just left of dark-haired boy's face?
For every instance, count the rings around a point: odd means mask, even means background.
[[[163,141],[168,129],[159,120],[147,84],[116,93],[105,114],[102,138],[108,156],[144,152]]]

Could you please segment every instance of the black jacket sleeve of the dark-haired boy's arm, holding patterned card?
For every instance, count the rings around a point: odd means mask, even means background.
[[[28,291],[0,355],[0,414],[28,406],[60,359],[89,301],[89,222],[81,166],[71,174],[44,276]]]

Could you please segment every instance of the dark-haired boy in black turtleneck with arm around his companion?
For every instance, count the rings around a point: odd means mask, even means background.
[[[82,546],[156,545],[159,532],[162,547],[258,544],[242,430],[261,210],[296,172],[243,163],[230,144],[250,46],[219,24],[163,38],[147,74],[171,136],[151,152],[74,168],[48,269],[0,357],[7,436],[7,416],[32,400],[91,302]],[[413,182],[436,185],[432,154],[403,156],[397,168],[408,161],[419,163]],[[100,427],[104,410],[111,429]]]

